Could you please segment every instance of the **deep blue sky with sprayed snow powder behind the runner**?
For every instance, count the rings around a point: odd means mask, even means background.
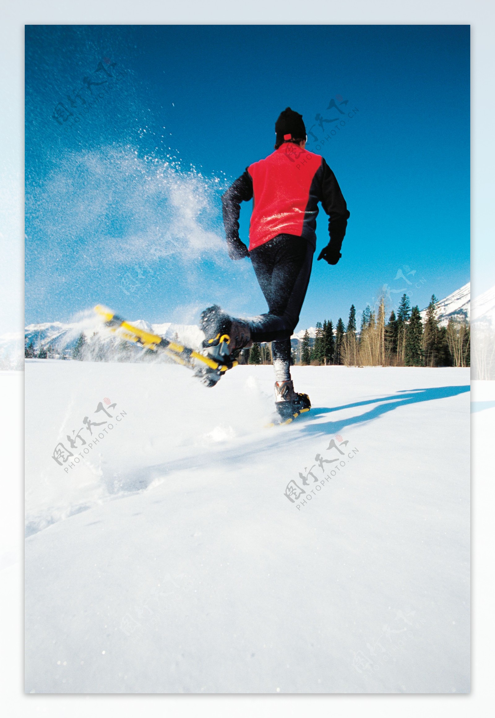
[[[420,309],[445,297],[469,279],[469,52],[468,26],[28,27],[27,322],[97,302],[152,322],[217,299],[265,311],[249,261],[215,239],[221,188],[273,151],[283,108],[320,137],[336,97],[357,111],[308,149],[351,217],[339,264],[315,261],[299,328],[346,321],[385,284]],[[65,131],[55,106],[70,95],[82,111],[74,90],[90,101],[84,78],[105,70],[123,77]],[[321,210],[317,252],[326,226]]]

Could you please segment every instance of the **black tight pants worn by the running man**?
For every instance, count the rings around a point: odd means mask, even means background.
[[[272,342],[273,360],[290,360],[291,335],[308,289],[315,246],[292,234],[279,234],[250,252],[268,314],[250,320],[254,342]]]

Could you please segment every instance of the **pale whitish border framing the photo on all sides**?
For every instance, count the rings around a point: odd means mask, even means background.
[[[1,172],[10,178],[15,200],[10,205],[11,254],[0,262],[0,283],[11,281],[10,306],[22,307],[22,80],[24,24],[471,24],[473,98],[473,272],[476,293],[484,291],[486,266],[494,268],[490,200],[494,197],[494,4],[489,0],[286,0],[199,1],[150,0],[4,0],[0,22]],[[5,206],[5,197],[3,199]],[[492,200],[493,202],[493,200]],[[16,241],[16,237],[18,240]],[[491,241],[490,241],[491,240]],[[495,271],[493,272],[495,279]],[[18,288],[18,292],[15,289]],[[477,291],[476,291],[477,290]],[[5,307],[4,307],[5,309]],[[1,311],[1,310],[0,310]],[[12,310],[10,311],[11,320]],[[0,315],[1,316],[1,315]],[[5,315],[4,315],[5,318]],[[476,383],[476,399],[494,392],[494,382]],[[473,690],[468,696],[24,696],[22,585],[22,373],[0,373],[2,496],[1,552],[9,549],[14,564],[0,574],[0,705],[9,718],[39,714],[50,717],[98,718],[108,712],[119,718],[162,716],[339,717],[365,712],[387,717],[456,718],[489,714],[494,656],[494,472],[491,442],[495,411],[473,415]],[[495,394],[494,394],[495,396]],[[7,412],[9,414],[7,415]],[[491,440],[490,440],[491,437]],[[144,702],[143,702],[144,701]]]

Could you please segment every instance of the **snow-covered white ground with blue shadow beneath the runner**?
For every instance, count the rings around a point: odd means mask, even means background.
[[[272,371],[27,360],[28,693],[469,691],[469,370]]]

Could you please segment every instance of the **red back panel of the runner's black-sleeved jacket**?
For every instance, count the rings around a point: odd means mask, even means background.
[[[278,234],[303,236],[309,190],[320,167],[319,154],[289,142],[248,167],[253,180],[250,251]]]

